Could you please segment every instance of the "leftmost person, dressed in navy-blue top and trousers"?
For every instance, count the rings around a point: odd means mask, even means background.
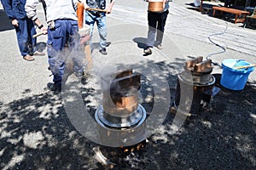
[[[13,26],[15,26],[16,37],[23,59],[32,61],[32,55],[44,53],[36,51],[37,39],[32,36],[36,29],[31,19],[27,18],[25,11],[26,0],[1,0],[3,8]]]

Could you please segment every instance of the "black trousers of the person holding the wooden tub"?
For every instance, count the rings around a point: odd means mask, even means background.
[[[168,10],[163,13],[148,12],[148,47],[162,43],[168,14]],[[155,35],[156,40],[154,42]]]

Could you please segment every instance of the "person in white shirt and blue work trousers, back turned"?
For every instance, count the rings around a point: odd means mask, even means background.
[[[26,14],[36,25],[48,34],[47,53],[49,70],[53,74],[53,82],[47,84],[50,91],[55,94],[61,92],[61,85],[66,65],[66,60],[76,44],[79,44],[79,26],[76,14],[77,0],[40,0],[44,4],[46,21],[44,26],[38,19],[37,8],[38,0],[26,1]],[[83,74],[84,67],[74,65],[75,73]]]

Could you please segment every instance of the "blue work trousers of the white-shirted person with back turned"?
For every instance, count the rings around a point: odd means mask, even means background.
[[[47,45],[49,69],[54,75],[53,82],[56,85],[61,86],[65,62],[68,57],[73,57],[73,70],[75,72],[84,70],[81,60],[69,55],[74,47],[80,45],[77,20],[55,20],[55,28],[48,29]]]

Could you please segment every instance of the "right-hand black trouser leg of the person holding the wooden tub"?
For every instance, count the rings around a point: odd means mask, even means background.
[[[160,45],[163,41],[165,26],[166,26],[166,19],[168,14],[169,14],[169,11],[166,10],[166,12],[159,15],[157,35],[156,35],[156,41],[155,41],[155,45],[157,46]]]

